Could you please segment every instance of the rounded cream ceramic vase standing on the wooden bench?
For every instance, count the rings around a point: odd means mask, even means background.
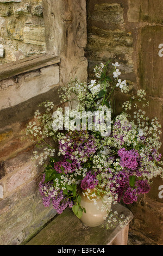
[[[81,203],[86,210],[86,213],[83,211],[83,216],[80,219],[84,225],[88,227],[97,227],[104,222],[104,217],[106,211],[101,211],[101,206],[103,205],[102,199],[96,199],[96,202],[89,200],[83,193],[80,193]]]

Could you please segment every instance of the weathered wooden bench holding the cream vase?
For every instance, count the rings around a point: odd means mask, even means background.
[[[127,245],[133,214],[121,204],[113,205],[112,210],[127,217],[128,221],[123,228],[120,224],[113,229],[85,227],[72,210],[67,208],[26,245]]]

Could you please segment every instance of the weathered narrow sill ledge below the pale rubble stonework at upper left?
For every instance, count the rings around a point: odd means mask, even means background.
[[[0,81],[12,76],[54,65],[60,62],[60,57],[48,54],[33,56],[16,62],[11,62],[0,66]]]

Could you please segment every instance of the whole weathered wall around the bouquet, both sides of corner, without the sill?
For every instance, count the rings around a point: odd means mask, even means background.
[[[162,124],[162,9],[159,0],[0,0],[1,68],[40,54],[60,58],[0,81],[0,245],[26,243],[56,214],[42,204],[42,168],[31,160],[36,145],[26,124],[42,101],[60,106],[60,86],[74,77],[86,81],[87,71],[92,78],[97,63],[117,61],[130,94],[145,89],[147,114]],[[126,99],[115,100],[119,112]],[[128,206],[129,244],[163,244],[161,185],[155,178],[151,192]]]

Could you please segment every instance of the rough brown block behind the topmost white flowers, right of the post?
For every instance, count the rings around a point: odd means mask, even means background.
[[[125,31],[111,31],[91,27],[87,36],[86,57],[89,60],[89,75],[94,75],[97,62],[117,60],[123,74],[133,72],[133,38]]]

